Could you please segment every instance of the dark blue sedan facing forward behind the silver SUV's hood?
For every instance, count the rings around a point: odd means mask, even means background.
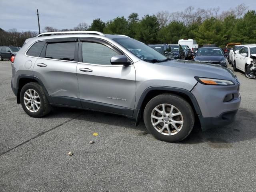
[[[227,66],[227,59],[224,52],[219,47],[202,47],[199,48],[194,57],[194,61],[218,64],[223,67]]]

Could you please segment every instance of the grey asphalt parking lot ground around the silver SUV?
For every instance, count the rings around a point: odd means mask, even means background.
[[[256,80],[236,74],[236,121],[167,143],[112,114],[56,108],[31,118],[10,88],[10,62],[0,62],[0,191],[253,192]]]

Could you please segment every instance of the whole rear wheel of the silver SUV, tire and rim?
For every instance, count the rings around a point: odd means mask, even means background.
[[[23,86],[20,91],[20,101],[23,110],[32,117],[42,117],[51,111],[42,86],[35,82]]]

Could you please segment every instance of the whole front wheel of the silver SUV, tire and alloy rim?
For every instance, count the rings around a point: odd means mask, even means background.
[[[166,142],[186,138],[194,126],[194,112],[190,104],[174,94],[161,94],[148,102],[144,109],[148,132]]]

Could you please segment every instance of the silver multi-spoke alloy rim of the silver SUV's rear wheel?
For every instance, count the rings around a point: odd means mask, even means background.
[[[23,96],[24,104],[30,112],[37,112],[40,108],[40,96],[34,89],[28,89]]]

